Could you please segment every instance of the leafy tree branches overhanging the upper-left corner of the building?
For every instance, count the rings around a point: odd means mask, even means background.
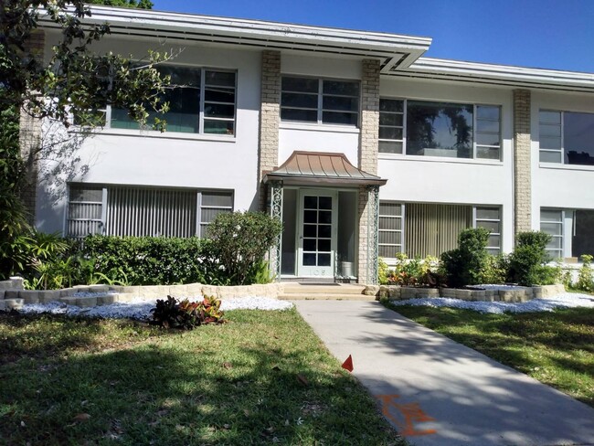
[[[149,111],[164,112],[166,79],[154,65],[166,58],[150,52],[140,66],[129,58],[92,46],[110,34],[108,24],[83,24],[89,6],[80,0],[5,0],[0,10],[0,104],[16,105],[37,118],[51,118],[69,126],[74,114],[93,123],[106,105],[127,109],[145,122]],[[43,60],[27,41],[42,23],[58,27],[61,38]],[[50,101],[48,99],[51,99]],[[157,126],[161,122],[155,122]]]

